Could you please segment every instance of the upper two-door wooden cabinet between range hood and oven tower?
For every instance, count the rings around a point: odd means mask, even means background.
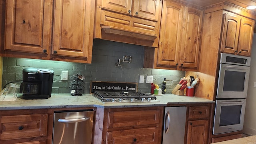
[[[201,42],[203,10],[172,0],[163,4],[159,47],[154,58],[145,50],[144,68],[197,70]]]

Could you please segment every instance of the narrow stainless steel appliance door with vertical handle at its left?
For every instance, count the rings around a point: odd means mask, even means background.
[[[162,144],[184,144],[186,111],[185,106],[165,108]]]

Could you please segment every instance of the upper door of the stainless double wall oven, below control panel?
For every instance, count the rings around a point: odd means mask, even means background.
[[[250,67],[220,64],[216,98],[246,98]]]

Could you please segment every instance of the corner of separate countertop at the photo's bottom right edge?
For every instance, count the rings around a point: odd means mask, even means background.
[[[256,144],[256,136],[248,136],[234,140],[226,140],[223,142],[214,142],[212,144]]]

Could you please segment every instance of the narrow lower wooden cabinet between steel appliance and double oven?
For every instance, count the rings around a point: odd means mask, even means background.
[[[208,144],[211,105],[189,106],[186,144]]]

